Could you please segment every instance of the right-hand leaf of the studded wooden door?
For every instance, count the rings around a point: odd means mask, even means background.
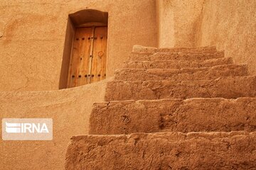
[[[91,83],[106,78],[107,27],[96,27],[92,55]]]

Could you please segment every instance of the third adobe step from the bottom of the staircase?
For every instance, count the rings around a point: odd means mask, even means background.
[[[161,98],[239,98],[256,96],[256,77],[197,81],[109,81],[105,101]]]

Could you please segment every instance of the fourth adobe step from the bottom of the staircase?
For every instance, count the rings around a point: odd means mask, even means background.
[[[205,68],[183,69],[119,69],[115,72],[115,80],[119,81],[146,81],[146,80],[207,80],[218,77],[247,76],[245,64],[228,64]]]

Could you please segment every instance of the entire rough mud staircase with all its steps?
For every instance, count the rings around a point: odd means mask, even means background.
[[[215,47],[134,46],[65,169],[256,169],[256,77]]]

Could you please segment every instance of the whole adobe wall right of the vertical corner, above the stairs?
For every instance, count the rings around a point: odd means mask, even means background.
[[[159,47],[215,45],[256,74],[256,1],[156,0]]]

